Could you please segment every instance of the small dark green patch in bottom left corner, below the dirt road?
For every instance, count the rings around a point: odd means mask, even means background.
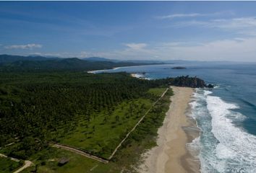
[[[22,166],[22,161],[13,161],[9,158],[0,157],[0,172],[9,173],[13,172],[18,167]]]

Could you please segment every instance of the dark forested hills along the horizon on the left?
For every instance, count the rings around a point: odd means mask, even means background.
[[[85,61],[79,58],[46,58],[42,56],[0,55],[0,71],[92,71],[119,66],[140,66],[153,63]]]

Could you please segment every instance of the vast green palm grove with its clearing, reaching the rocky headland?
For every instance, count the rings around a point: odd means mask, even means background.
[[[30,158],[49,142],[107,159],[169,84],[206,86],[189,76],[148,81],[126,73],[58,71],[58,66],[50,71],[12,68],[0,74],[0,146],[1,153],[18,159]],[[153,107],[150,123],[142,122],[133,141],[156,135],[167,100]],[[123,147],[129,142],[128,138]]]

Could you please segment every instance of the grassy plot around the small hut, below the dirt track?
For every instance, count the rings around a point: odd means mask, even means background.
[[[69,162],[62,167],[58,166],[58,162],[61,158],[68,158]],[[74,154],[71,151],[66,151],[59,148],[46,148],[38,154],[33,155],[31,158],[35,163],[35,166],[29,167],[22,171],[38,172],[38,173],[51,173],[51,172],[108,172],[111,169],[111,164],[102,164],[101,162],[93,159],[88,159],[85,156]],[[95,170],[90,171],[93,167],[98,165]]]

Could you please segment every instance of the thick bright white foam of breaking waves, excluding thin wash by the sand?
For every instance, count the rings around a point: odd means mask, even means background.
[[[214,152],[216,158],[209,159],[213,162],[211,166],[218,172],[256,172],[256,136],[232,123],[231,117],[244,118],[234,112],[239,107],[210,95],[206,101],[212,116],[211,132],[219,141]]]

